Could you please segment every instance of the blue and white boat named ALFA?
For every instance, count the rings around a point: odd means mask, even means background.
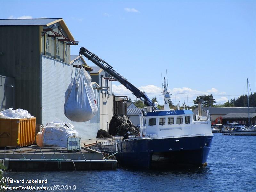
[[[163,84],[162,84],[163,85]],[[192,110],[171,110],[164,78],[164,110],[145,107],[140,115],[140,135],[113,137],[119,165],[134,168],[206,166],[213,134],[209,110],[196,116]],[[157,106],[157,103],[156,103]],[[202,107],[200,106],[199,108]],[[200,111],[200,109],[199,109]]]

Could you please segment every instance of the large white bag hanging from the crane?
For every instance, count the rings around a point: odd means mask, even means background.
[[[71,121],[84,122],[97,113],[97,103],[90,75],[81,67],[65,93],[64,114]]]

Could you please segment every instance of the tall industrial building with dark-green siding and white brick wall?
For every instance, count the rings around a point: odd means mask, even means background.
[[[114,79],[98,67],[89,67],[83,57],[70,56],[70,46],[78,41],[63,19],[1,19],[0,34],[0,111],[26,109],[36,117],[36,124],[55,118],[68,121],[82,139],[95,138],[99,129],[108,130],[115,112]],[[72,70],[79,63],[92,77],[98,105],[98,114],[83,123],[71,122],[63,112]]]

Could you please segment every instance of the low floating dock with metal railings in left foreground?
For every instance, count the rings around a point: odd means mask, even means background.
[[[62,171],[117,169],[114,156],[108,159],[100,148],[6,147],[0,150],[0,160],[13,171]]]

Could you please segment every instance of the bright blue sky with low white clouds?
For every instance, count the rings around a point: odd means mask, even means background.
[[[166,71],[174,104],[224,104],[247,94],[247,78],[256,92],[256,1],[0,0],[0,18],[63,18],[79,41],[71,54],[89,49],[159,104]],[[113,92],[135,99],[119,82]]]

